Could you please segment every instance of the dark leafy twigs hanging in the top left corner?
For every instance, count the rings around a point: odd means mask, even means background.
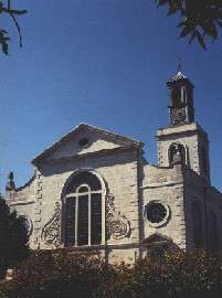
[[[22,47],[22,34],[21,34],[21,28],[19,25],[19,22],[17,20],[17,17],[27,13],[27,10],[17,10],[11,7],[11,1],[8,0],[7,2],[0,1],[0,14],[7,14],[9,18],[12,19],[20,39],[20,47]],[[0,28],[0,44],[2,47],[2,52],[8,55],[9,54],[9,41],[10,38],[8,35],[8,31],[6,29]]]

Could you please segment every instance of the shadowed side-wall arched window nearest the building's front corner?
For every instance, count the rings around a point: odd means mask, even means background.
[[[194,248],[203,248],[202,207],[200,202],[192,203],[191,213]]]

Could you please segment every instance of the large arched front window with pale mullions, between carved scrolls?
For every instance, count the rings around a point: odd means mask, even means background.
[[[102,184],[92,172],[74,175],[65,191],[65,245],[102,243]]]

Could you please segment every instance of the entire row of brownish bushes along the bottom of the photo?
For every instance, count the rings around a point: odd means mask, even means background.
[[[20,264],[0,291],[7,298],[218,298],[222,257],[173,252],[130,267],[107,265],[97,254],[40,251]]]

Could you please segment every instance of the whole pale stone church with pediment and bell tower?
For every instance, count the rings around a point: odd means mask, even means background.
[[[222,194],[211,185],[208,134],[195,121],[193,85],[167,87],[170,124],[157,130],[158,164],[144,143],[81,124],[32,160],[34,175],[6,188],[25,219],[30,247],[99,252],[134,262],[154,245],[222,249]]]

